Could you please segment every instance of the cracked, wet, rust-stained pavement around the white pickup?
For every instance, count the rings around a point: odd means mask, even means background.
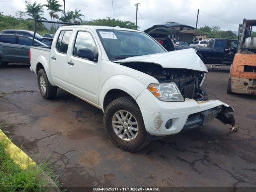
[[[44,100],[28,66],[0,69],[0,121],[34,160],[49,156],[65,187],[256,186],[256,98],[226,94],[228,72],[210,70],[204,87],[235,109],[240,130],[232,134],[214,120],[123,152],[106,137],[101,110],[62,90]]]

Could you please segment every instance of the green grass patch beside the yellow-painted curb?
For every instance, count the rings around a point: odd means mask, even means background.
[[[48,176],[54,177],[50,168],[50,162],[37,165],[28,165],[27,169],[22,169],[14,160],[10,158],[6,147],[8,143],[0,140],[0,191],[1,192],[43,192],[48,190],[48,181],[42,174],[45,172]],[[58,182],[57,182],[58,184]]]

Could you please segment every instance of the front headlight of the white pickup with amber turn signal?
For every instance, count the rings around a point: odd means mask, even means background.
[[[150,84],[148,90],[162,101],[184,101],[179,88],[174,82]]]

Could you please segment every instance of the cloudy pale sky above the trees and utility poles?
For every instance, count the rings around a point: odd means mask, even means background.
[[[34,0],[28,0],[34,2]],[[36,0],[46,4],[46,0]],[[59,0],[63,4],[63,0]],[[138,5],[138,26],[145,30],[155,24],[178,22],[196,26],[219,26],[221,30],[238,31],[243,18],[256,19],[255,0],[114,0],[114,18],[136,20]],[[251,6],[250,6],[251,5]],[[112,0],[66,0],[67,10],[81,10],[82,20],[112,17]],[[63,8],[64,9],[64,8]],[[24,0],[0,0],[0,12],[15,16],[16,11],[25,11]],[[47,10],[45,18],[51,20]],[[61,16],[61,13],[58,13]]]

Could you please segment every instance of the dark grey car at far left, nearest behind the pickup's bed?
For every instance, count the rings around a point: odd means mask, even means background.
[[[32,38],[15,34],[0,34],[0,66],[8,63],[30,63]],[[47,46],[34,40],[34,46]]]

